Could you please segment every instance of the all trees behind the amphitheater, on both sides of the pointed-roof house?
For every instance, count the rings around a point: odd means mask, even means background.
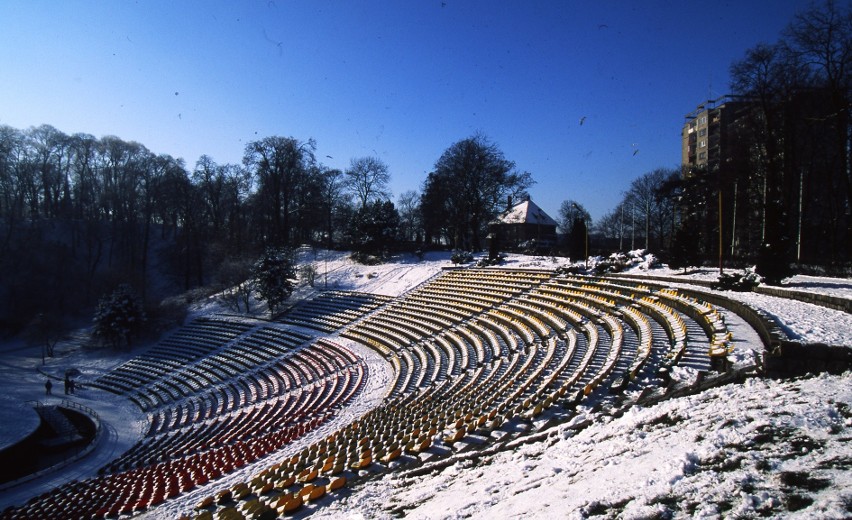
[[[771,247],[783,261],[848,262],[850,35],[852,8],[828,1],[749,49],[731,66],[746,107],[732,127],[737,160],[644,173],[595,223],[565,201],[567,240],[553,253],[644,248],[695,264]],[[390,175],[377,157],[327,167],[313,139],[264,137],[239,164],[203,155],[188,166],[115,136],[0,126],[0,330],[79,317],[122,283],[145,302],[234,287],[270,248],[345,247],[362,260],[482,250],[506,201],[534,184],[482,134],[452,143],[396,203]]]

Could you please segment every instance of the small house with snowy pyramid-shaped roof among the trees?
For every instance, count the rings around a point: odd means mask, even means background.
[[[491,250],[551,251],[556,247],[556,226],[556,221],[527,197],[489,225]]]

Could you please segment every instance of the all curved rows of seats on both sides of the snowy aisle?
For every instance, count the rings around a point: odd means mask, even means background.
[[[323,311],[315,309],[321,323]],[[507,422],[661,384],[660,367],[681,362],[687,351],[702,359],[727,352],[731,339],[715,308],[678,291],[546,271],[448,271],[361,312],[347,318],[341,335],[391,363],[382,404],[283,463],[211,492],[187,514],[313,507],[374,465],[487,442],[512,431],[503,429]],[[332,339],[269,325],[223,337],[204,356],[161,361],[180,376],[137,378],[144,364],[136,363],[102,380],[148,410],[151,425],[104,469],[106,492],[82,491],[93,516],[152,507],[283,448],[345,406],[366,377],[363,361]],[[126,380],[117,384],[118,376]],[[129,485],[131,476],[142,484]],[[25,511],[40,507],[62,509],[43,497]]]

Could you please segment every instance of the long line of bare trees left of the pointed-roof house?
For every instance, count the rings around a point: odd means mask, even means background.
[[[401,243],[479,248],[496,201],[532,182],[474,136],[452,145],[426,183],[432,195],[464,193],[453,202],[463,208],[446,212],[417,191],[397,207],[379,158],[339,170],[315,152],[313,139],[270,136],[249,142],[241,164],[202,155],[188,167],[115,136],[0,126],[0,269],[14,273],[0,286],[0,330],[80,317],[120,284],[145,302],[231,287],[269,248],[349,247],[365,257]]]

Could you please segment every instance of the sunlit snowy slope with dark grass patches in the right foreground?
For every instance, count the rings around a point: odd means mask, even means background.
[[[852,374],[749,380],[581,416],[426,477],[390,474],[312,518],[844,518]]]

